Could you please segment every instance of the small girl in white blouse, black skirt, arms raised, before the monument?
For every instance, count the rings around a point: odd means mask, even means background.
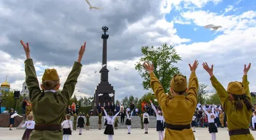
[[[114,128],[113,128],[113,123],[115,121],[116,116],[119,114],[116,113],[115,116],[112,116],[112,111],[109,111],[109,113],[106,112],[104,107],[101,107],[106,115],[107,119],[107,126],[105,128],[104,134],[108,135],[108,140],[113,140],[113,135],[114,135]]]

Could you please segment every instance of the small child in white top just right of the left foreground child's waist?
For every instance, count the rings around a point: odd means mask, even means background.
[[[63,140],[68,140],[72,134],[72,121],[70,121],[70,114],[66,114],[66,120],[61,123],[63,128]]]

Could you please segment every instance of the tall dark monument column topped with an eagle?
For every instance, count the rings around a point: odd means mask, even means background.
[[[95,89],[95,95],[94,100],[95,104],[101,105],[108,104],[108,102],[111,104],[111,102],[115,102],[115,90],[113,89],[113,86],[109,84],[108,82],[108,68],[107,68],[107,40],[108,36],[106,33],[108,32],[108,27],[104,26],[102,27],[102,31],[104,34],[102,34],[101,38],[103,40],[102,44],[102,68],[100,70],[100,83]]]

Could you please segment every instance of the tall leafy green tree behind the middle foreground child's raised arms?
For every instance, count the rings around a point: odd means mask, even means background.
[[[153,46],[151,47],[153,48]],[[164,93],[170,90],[170,81],[174,74],[180,74],[179,68],[174,66],[175,63],[181,60],[179,54],[175,51],[172,46],[168,46],[166,43],[158,47],[157,51],[148,51],[148,46],[141,47],[142,57],[140,61],[136,63],[135,69],[144,79],[142,82],[143,89],[150,89],[150,77],[148,72],[145,71],[143,66],[144,61],[154,64],[154,74],[161,82]]]

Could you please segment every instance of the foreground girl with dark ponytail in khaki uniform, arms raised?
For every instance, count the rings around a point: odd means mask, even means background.
[[[243,81],[229,82],[227,90],[214,76],[213,65],[209,68],[207,63],[203,63],[203,67],[211,77],[212,86],[216,89],[221,105],[228,118],[228,134],[230,140],[253,140],[254,138],[249,130],[250,120],[252,118],[252,97],[249,89],[250,83],[247,79],[247,73],[250,70],[251,63],[248,66],[244,65]]]

